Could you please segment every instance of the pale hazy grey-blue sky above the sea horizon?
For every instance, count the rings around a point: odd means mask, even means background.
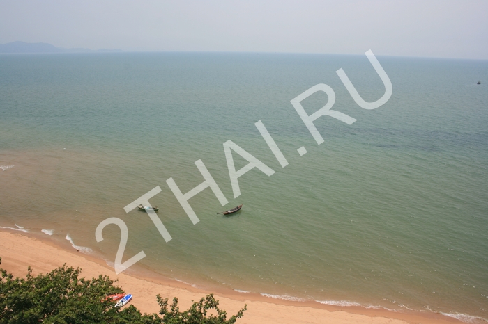
[[[0,44],[488,59],[487,0],[0,0]]]

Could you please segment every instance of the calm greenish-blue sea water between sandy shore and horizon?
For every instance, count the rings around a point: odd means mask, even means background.
[[[128,226],[123,261],[146,254],[128,273],[482,321],[488,62],[377,58],[393,94],[365,110],[335,74],[342,67],[365,100],[379,99],[383,83],[364,55],[2,55],[0,227],[68,238],[113,264],[120,230],[109,225],[97,243],[95,229],[116,217]],[[333,109],[357,120],[316,120],[321,145],[290,103],[318,83],[335,91]],[[311,114],[327,100],[316,93],[302,104]],[[235,199],[227,140],[275,171],[247,172]],[[190,191],[204,181],[198,159],[229,204],[207,188],[189,200],[200,220],[192,225],[166,180]],[[146,213],[123,210],[155,186],[168,243]],[[234,216],[216,215],[238,204]]]

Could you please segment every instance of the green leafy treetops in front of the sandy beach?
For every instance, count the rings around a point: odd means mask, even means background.
[[[227,312],[218,307],[213,294],[185,311],[179,310],[178,298],[173,298],[169,307],[168,298],[157,295],[159,314],[142,314],[133,305],[121,309],[114,300],[106,298],[123,293],[114,280],[102,275],[86,280],[79,278],[80,272],[79,268],[65,265],[33,276],[29,266],[25,278],[14,278],[0,268],[0,323],[232,324],[246,310],[245,306],[227,319]]]

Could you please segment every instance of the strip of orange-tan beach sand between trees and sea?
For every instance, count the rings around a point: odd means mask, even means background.
[[[67,264],[82,268],[82,277],[98,277],[109,275],[118,279],[125,292],[132,293],[130,302],[142,312],[158,313],[159,306],[155,296],[159,293],[163,298],[178,298],[180,309],[187,309],[192,300],[199,300],[210,293],[190,285],[169,280],[164,277],[137,277],[121,273],[116,275],[105,261],[77,252],[75,249],[63,249],[49,241],[13,231],[0,232],[0,268],[8,270],[17,277],[24,277],[27,267],[33,268],[33,274],[47,273],[54,268]],[[227,314],[236,314],[247,304],[247,311],[237,323],[330,323],[330,324],[417,324],[417,323],[462,323],[455,318],[434,313],[400,313],[385,309],[367,309],[364,307],[340,307],[321,305],[318,302],[291,302],[266,298],[254,293],[234,293],[220,291],[215,293],[220,307]]]

